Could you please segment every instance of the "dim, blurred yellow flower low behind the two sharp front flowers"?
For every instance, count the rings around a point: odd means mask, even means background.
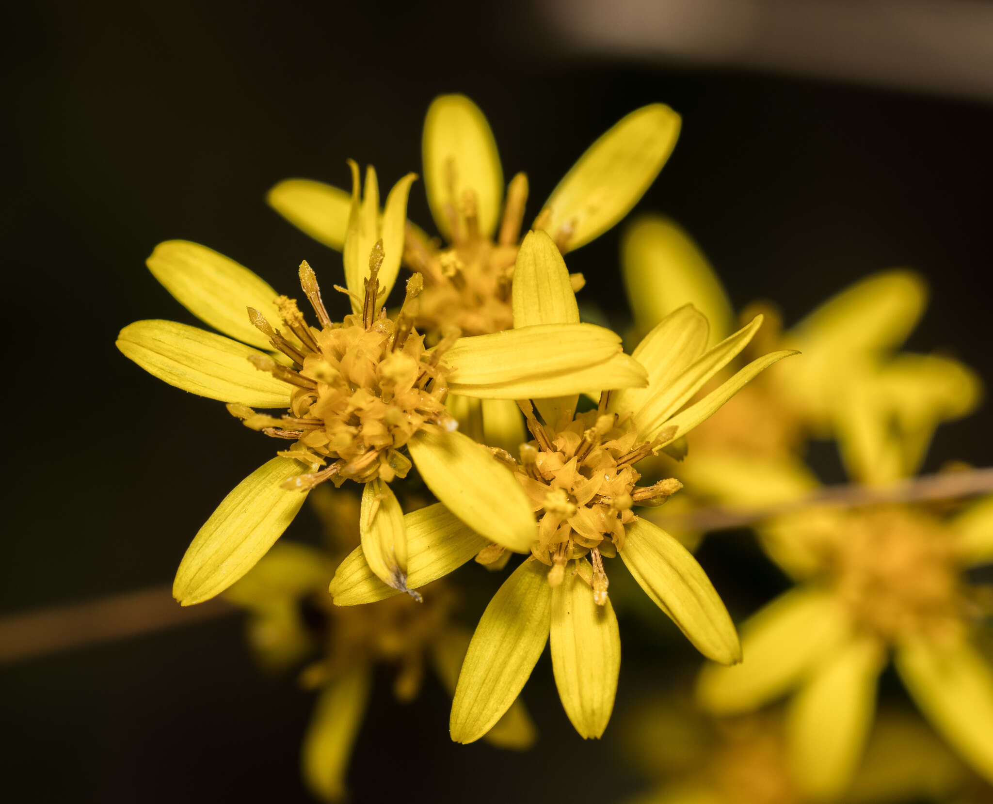
[[[401,596],[365,606],[332,605],[328,581],[339,551],[355,545],[359,511],[347,492],[312,499],[335,537],[331,553],[282,542],[224,595],[250,612],[249,643],[264,667],[284,670],[310,660],[300,683],[319,698],[303,742],[304,777],[317,796],[339,801],[346,797],[349,757],[373,669],[385,665],[395,672],[393,694],[400,701],[417,695],[425,665],[452,694],[471,635],[452,622],[458,596],[443,581],[422,604]],[[488,737],[499,747],[522,749],[533,743],[535,730],[518,704]]]

